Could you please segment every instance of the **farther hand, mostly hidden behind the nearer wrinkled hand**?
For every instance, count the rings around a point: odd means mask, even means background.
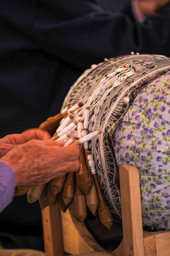
[[[5,155],[9,150],[16,146],[23,144],[30,139],[50,139],[50,135],[47,131],[42,131],[37,128],[28,129],[20,134],[10,134],[0,139],[0,157]]]

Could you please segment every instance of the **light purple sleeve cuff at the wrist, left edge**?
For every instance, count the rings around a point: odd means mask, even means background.
[[[13,200],[15,175],[9,165],[0,162],[0,212]]]

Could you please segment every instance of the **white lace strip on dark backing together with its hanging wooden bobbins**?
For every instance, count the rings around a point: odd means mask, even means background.
[[[44,186],[31,187],[28,202],[39,200],[42,209],[59,202],[62,211],[69,207],[80,222],[85,220],[87,208],[94,215],[98,211],[108,229],[114,216],[121,222],[114,131],[140,90],[169,70],[168,57],[134,52],[85,70],[70,88],[61,112],[40,125],[51,133],[51,139],[64,140],[65,146],[79,144],[81,167]],[[94,132],[94,137],[82,140]]]

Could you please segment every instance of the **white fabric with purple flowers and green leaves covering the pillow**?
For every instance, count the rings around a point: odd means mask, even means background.
[[[114,132],[116,162],[140,173],[143,225],[170,229],[170,72],[143,88]]]

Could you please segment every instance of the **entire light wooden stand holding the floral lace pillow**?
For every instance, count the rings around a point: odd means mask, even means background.
[[[142,229],[139,171],[134,166],[121,165],[121,206],[123,240],[111,253],[114,256],[168,256],[170,231],[146,232]],[[63,256],[90,252],[106,252],[99,246],[84,223],[72,218],[67,210],[60,213],[59,205],[42,210],[46,256]],[[62,229],[61,230],[61,222]]]

